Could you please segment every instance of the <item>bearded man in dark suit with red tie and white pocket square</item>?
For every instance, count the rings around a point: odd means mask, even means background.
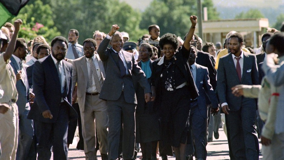
[[[231,88],[238,84],[257,85],[256,56],[241,50],[244,38],[234,33],[229,39],[230,54],[220,58],[217,90],[222,111],[228,114],[231,149],[235,159],[258,160],[259,144],[254,120],[256,100],[236,97]]]

